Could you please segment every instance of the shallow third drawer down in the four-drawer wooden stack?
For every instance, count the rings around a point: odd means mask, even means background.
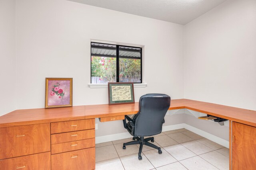
[[[52,145],[52,154],[95,147],[95,138]]]

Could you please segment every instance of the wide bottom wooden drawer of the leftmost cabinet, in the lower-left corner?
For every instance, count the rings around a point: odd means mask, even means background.
[[[1,170],[50,170],[51,153],[44,152],[0,160]]]

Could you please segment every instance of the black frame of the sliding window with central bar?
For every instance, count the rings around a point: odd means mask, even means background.
[[[92,43],[97,43],[91,41],[91,59],[92,59]],[[110,44],[110,43],[99,43],[99,44],[107,44],[107,45],[116,45],[116,44]],[[140,82],[133,82],[134,84],[142,84],[142,47],[132,47],[132,46],[127,46],[127,45],[116,45],[116,82],[119,82],[119,47],[131,47],[131,48],[138,48],[140,49]],[[90,79],[92,83],[92,61],[90,60]],[[100,83],[99,83],[100,84]]]

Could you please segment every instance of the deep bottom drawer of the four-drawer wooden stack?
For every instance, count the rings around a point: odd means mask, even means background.
[[[52,154],[52,170],[94,170],[95,148]]]

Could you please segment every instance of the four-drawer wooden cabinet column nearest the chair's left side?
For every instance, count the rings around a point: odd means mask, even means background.
[[[95,119],[51,123],[52,170],[95,169]]]

